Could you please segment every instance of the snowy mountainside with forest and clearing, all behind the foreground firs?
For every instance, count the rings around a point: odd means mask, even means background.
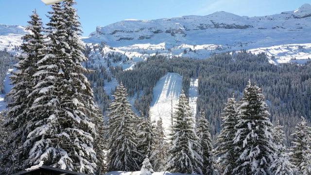
[[[10,71],[15,56],[23,54],[19,46],[27,33],[22,26],[0,24],[0,54],[6,55],[0,60],[6,62],[1,64],[1,110],[10,100],[5,99]],[[264,89],[272,121],[284,119],[287,136],[300,116],[311,119],[310,4],[263,17],[215,12],[128,19],[97,27],[82,41],[89,58],[84,66],[96,70],[87,78],[104,114],[122,82],[134,111],[155,121],[161,117],[169,134],[172,111],[184,89],[193,117],[206,110],[214,138],[226,99],[232,93],[241,98],[251,79]]]

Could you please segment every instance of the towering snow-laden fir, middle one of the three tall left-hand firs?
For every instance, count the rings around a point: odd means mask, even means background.
[[[58,73],[62,72],[59,63],[60,56],[67,56],[62,55],[63,50],[60,41],[66,34],[62,27],[64,20],[60,3],[53,4],[52,10],[53,12],[49,12],[51,15],[50,23],[47,24],[48,37],[50,38],[47,43],[47,54],[37,61],[38,67],[34,77],[38,83],[29,95],[35,100],[29,108],[29,115],[32,116],[29,121],[31,132],[23,144],[29,154],[25,166],[31,167],[44,161],[46,165],[72,170],[73,165],[71,163],[73,161],[67,152],[60,148],[58,144],[60,139],[57,137],[60,131]]]

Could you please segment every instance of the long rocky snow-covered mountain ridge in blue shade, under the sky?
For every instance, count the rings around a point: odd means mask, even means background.
[[[104,42],[113,47],[133,44],[239,45],[267,47],[279,44],[309,43],[311,5],[295,11],[264,17],[245,17],[227,12],[207,16],[184,16],[155,20],[129,19],[96,31],[84,41]],[[287,42],[287,43],[286,43]],[[247,48],[246,48],[247,49]]]

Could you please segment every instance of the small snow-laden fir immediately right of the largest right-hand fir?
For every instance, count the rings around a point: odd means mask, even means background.
[[[273,129],[273,142],[275,144],[274,161],[270,166],[272,175],[294,175],[293,165],[290,162],[290,154],[284,145],[285,133],[282,130],[279,120]]]

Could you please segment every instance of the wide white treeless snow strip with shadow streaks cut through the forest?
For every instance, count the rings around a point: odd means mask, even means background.
[[[183,77],[177,73],[167,73],[155,85],[153,89],[153,100],[150,106],[151,120],[163,120],[163,128],[166,136],[170,133],[172,126],[172,103],[173,111],[178,102],[182,89]]]

